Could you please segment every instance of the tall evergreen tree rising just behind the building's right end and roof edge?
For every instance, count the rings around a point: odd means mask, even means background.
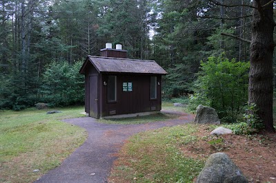
[[[188,6],[191,6],[192,2]],[[154,36],[153,59],[166,69],[164,78],[166,98],[178,97],[191,92],[190,84],[198,71],[199,61],[204,58],[198,54],[205,50],[206,35],[195,27],[204,27],[196,19],[191,19],[193,10],[188,10],[181,1],[163,1],[160,4],[162,19],[158,19],[159,27]],[[189,20],[189,21],[186,21]]]

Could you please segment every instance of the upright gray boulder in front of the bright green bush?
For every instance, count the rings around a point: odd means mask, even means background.
[[[220,124],[219,116],[217,111],[212,107],[206,107],[204,105],[199,105],[197,107],[197,114],[195,115],[196,123],[209,123],[209,124]]]

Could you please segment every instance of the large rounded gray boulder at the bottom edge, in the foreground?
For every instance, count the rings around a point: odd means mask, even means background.
[[[197,183],[247,183],[242,171],[225,153],[210,155],[204,169],[197,177]]]

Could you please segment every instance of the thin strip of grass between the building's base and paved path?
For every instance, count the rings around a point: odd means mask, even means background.
[[[106,124],[143,124],[147,122],[166,121],[179,116],[174,114],[151,114],[148,116],[136,116],[131,118],[113,118],[113,119],[100,119],[98,122]]]

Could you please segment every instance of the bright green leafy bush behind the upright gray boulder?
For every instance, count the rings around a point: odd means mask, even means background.
[[[194,83],[195,94],[190,97],[190,109],[208,105],[216,109],[222,120],[237,120],[247,100],[249,63],[229,61],[221,54],[201,61],[200,68]]]

